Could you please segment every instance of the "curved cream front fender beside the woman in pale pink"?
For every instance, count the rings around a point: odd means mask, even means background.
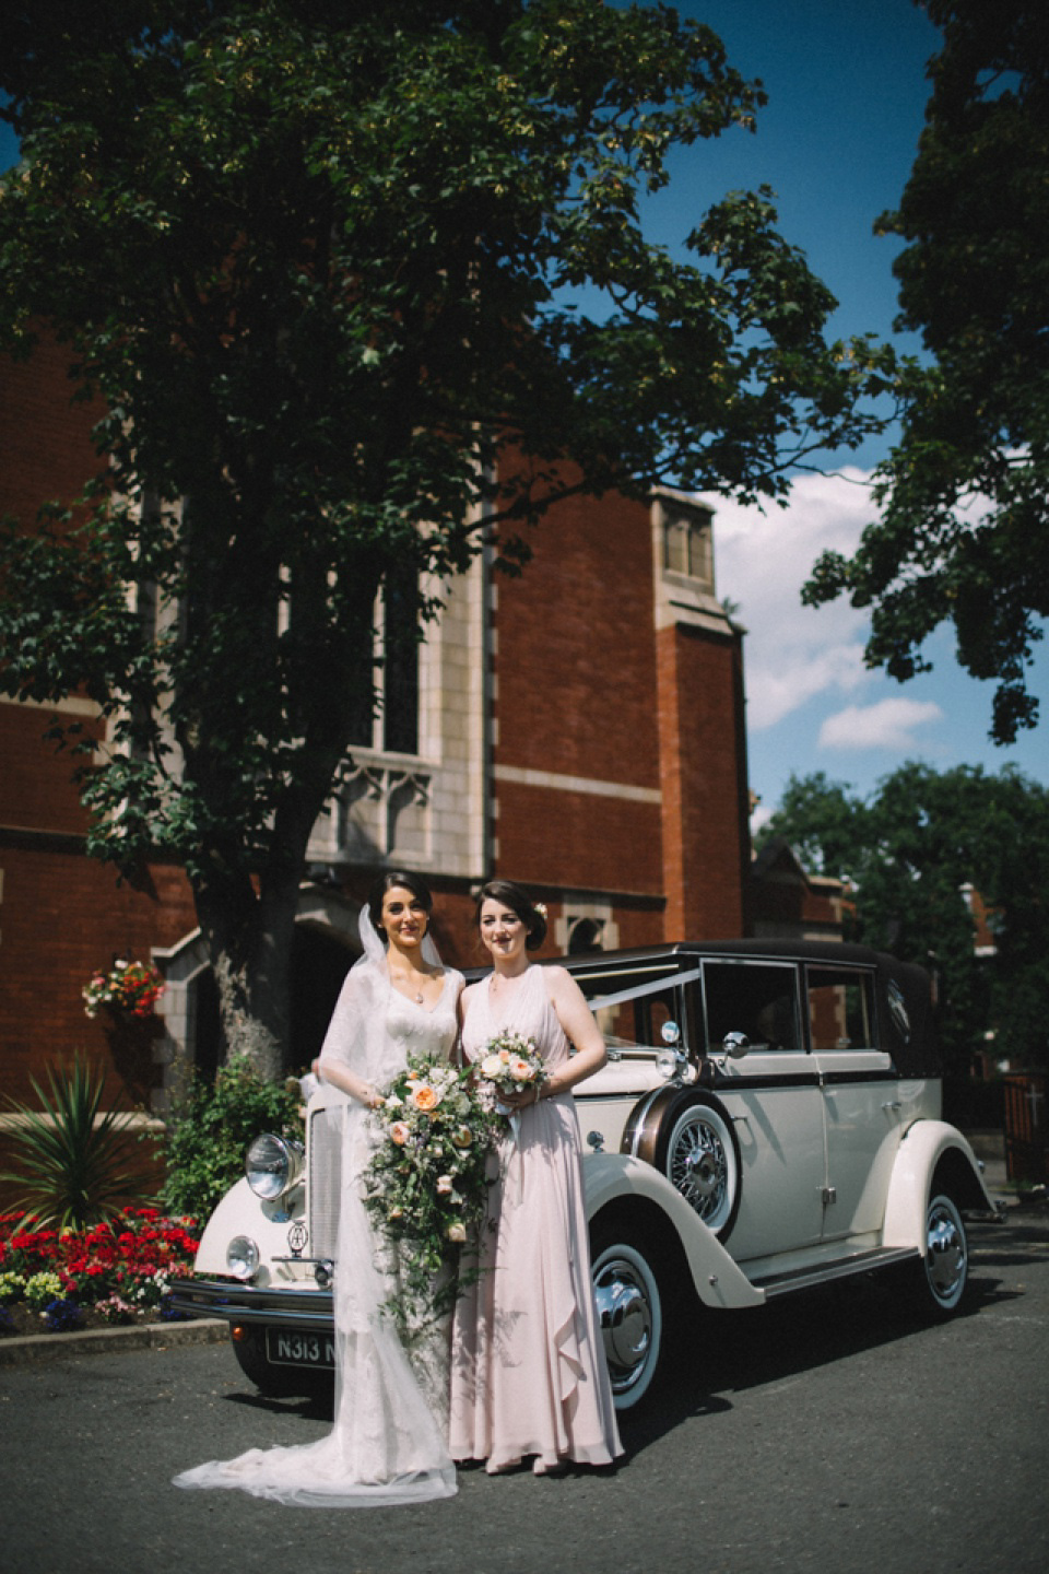
[[[764,1305],[764,1291],[755,1289],[717,1236],[651,1165],[629,1154],[593,1154],[583,1160],[583,1188],[588,1220],[639,1203],[657,1209],[681,1245],[695,1292],[705,1305]]]

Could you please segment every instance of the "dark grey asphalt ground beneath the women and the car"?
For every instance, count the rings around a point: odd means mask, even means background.
[[[610,1473],[462,1472],[450,1502],[291,1509],[175,1472],[307,1442],[223,1344],[0,1369],[3,1574],[1044,1574],[1049,1218],[974,1229],[966,1314],[887,1284],[708,1314]]]

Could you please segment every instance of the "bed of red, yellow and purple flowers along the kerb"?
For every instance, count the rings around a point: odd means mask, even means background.
[[[0,1336],[179,1317],[171,1280],[192,1273],[197,1245],[193,1220],[156,1209],[64,1234],[0,1215]]]

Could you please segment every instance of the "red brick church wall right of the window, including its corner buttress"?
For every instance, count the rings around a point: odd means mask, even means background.
[[[742,933],[741,639],[656,634],[646,504],[572,499],[528,541],[524,575],[497,576],[495,765],[661,790],[662,807],[497,778],[499,874],[665,896],[662,921],[617,903],[621,944]]]

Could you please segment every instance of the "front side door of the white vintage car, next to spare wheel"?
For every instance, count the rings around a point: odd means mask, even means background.
[[[712,1091],[739,1144],[741,1195],[727,1237],[738,1262],[793,1251],[823,1234],[824,1111],[807,1053],[793,962],[703,960]],[[741,1058],[723,1050],[745,1034]]]

